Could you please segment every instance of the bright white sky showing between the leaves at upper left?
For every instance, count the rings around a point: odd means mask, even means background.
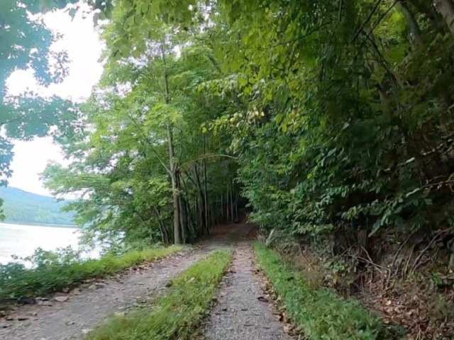
[[[78,14],[72,21],[67,13],[58,11],[46,14],[45,23],[51,30],[64,35],[52,49],[68,52],[70,57],[69,76],[62,84],[43,88],[36,84],[32,72],[17,71],[11,74],[8,80],[9,92],[20,94],[26,89],[31,89],[43,96],[55,94],[62,98],[71,98],[74,101],[87,98],[102,73],[102,66],[98,62],[102,45],[98,33],[93,27],[92,18],[83,19]],[[11,164],[13,176],[9,179],[9,186],[50,196],[47,189],[40,183],[39,174],[44,171],[48,161],[63,162],[60,151],[60,147],[55,145],[50,138],[16,142]]]

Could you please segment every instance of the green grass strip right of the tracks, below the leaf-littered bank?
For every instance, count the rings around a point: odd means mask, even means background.
[[[326,288],[310,288],[303,274],[287,266],[275,251],[261,244],[254,249],[260,267],[306,339],[389,339],[380,319],[358,301],[345,300]]]

